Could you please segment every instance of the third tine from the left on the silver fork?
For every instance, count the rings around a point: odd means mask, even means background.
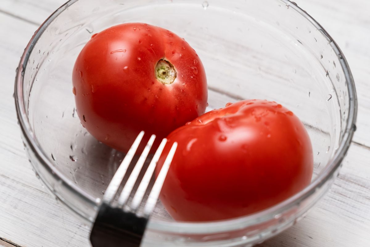
[[[152,160],[151,160],[151,162],[150,162],[150,164],[147,168],[147,171],[145,172],[144,177],[142,178],[142,180],[139,184],[139,187],[138,187],[138,189],[137,189],[137,191],[134,195],[134,198],[132,198],[130,208],[133,211],[137,210],[137,208],[139,207],[139,205],[142,201],[142,198],[144,197],[145,191],[147,190],[148,185],[150,183],[150,179],[153,176],[155,166],[157,165],[159,157],[161,156],[163,148],[166,145],[166,143],[167,143],[167,139],[164,138],[162,140],[161,144],[159,144],[159,147],[158,147],[157,151],[155,151],[155,154],[154,154],[154,156],[153,156],[153,158],[152,158]]]

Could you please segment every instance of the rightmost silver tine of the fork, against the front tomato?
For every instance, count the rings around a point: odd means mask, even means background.
[[[177,142],[174,142],[174,144],[171,147],[171,150],[169,150],[166,160],[163,163],[161,171],[159,171],[158,177],[154,182],[153,188],[149,193],[148,200],[145,203],[145,207],[144,207],[144,215],[146,216],[149,216],[152,213],[155,205],[157,204],[159,193],[161,192],[164,180],[166,178],[169,166],[171,165],[172,158],[174,157],[176,148],[177,148]]]

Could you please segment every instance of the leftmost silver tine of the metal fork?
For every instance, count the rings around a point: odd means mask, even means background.
[[[120,167],[118,167],[116,173],[114,174],[111,182],[109,183],[107,189],[105,190],[105,194],[103,197],[103,201],[110,204],[115,195],[117,194],[118,188],[120,187],[122,183],[122,179],[124,178],[127,168],[129,164],[131,163],[132,158],[134,157],[137,148],[139,147],[139,144],[141,142],[142,137],[144,136],[144,131],[141,131],[138,136],[136,137],[134,143],[128,150],[125,158],[123,159]]]

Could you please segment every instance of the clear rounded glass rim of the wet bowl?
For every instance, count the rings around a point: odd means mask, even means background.
[[[86,203],[90,204],[92,207],[97,207],[100,204],[99,199],[95,199],[90,196],[88,193],[83,191],[80,187],[75,185],[72,181],[68,180],[60,171],[56,169],[51,163],[50,158],[46,156],[43,152],[42,148],[38,145],[37,141],[34,138],[34,134],[31,130],[30,124],[28,122],[27,114],[25,105],[23,104],[23,75],[24,71],[27,66],[27,62],[31,52],[33,51],[34,44],[37,43],[40,36],[43,32],[47,29],[50,23],[64,10],[68,7],[73,5],[78,0],[69,0],[67,3],[63,4],[59,7],[53,14],[51,14],[46,21],[36,30],[34,35],[32,36],[31,40],[27,44],[26,49],[24,50],[23,55],[21,56],[19,69],[16,73],[16,80],[14,85],[14,99],[16,104],[16,111],[17,111],[17,118],[19,120],[20,128],[22,134],[24,136],[24,140],[27,142],[28,146],[30,147],[30,151],[36,156],[38,161],[42,164],[42,166],[57,180],[61,181],[63,186],[67,187],[69,191],[74,193],[76,196],[80,197],[81,200],[85,201]],[[351,140],[353,138],[354,131],[356,130],[356,117],[357,117],[357,96],[356,96],[356,88],[354,85],[354,80],[350,68],[348,66],[347,60],[344,57],[342,51],[336,44],[336,42],[330,37],[330,35],[325,31],[325,29],[306,11],[302,10],[300,7],[297,6],[296,3],[289,1],[289,0],[279,0],[282,4],[286,4],[286,6],[294,9],[303,17],[305,17],[308,21],[310,21],[313,26],[317,29],[321,29],[323,31],[322,35],[329,37],[332,42],[330,46],[336,52],[337,56],[340,57],[340,65],[344,71],[345,79],[347,81],[347,89],[349,93],[349,112],[348,112],[348,119],[346,122],[346,129],[343,133],[343,138],[340,140],[339,147],[334,153],[332,159],[328,162],[327,166],[321,171],[320,174],[309,184],[305,189],[300,191],[299,193],[295,194],[294,196],[287,198],[286,200],[276,204],[273,207],[266,208],[265,210],[259,211],[254,214],[250,214],[247,216],[242,216],[238,218],[232,218],[228,220],[221,220],[221,221],[209,221],[209,222],[196,222],[196,223],[189,223],[189,222],[178,222],[178,221],[163,221],[163,220],[156,220],[151,219],[148,224],[148,228],[155,231],[164,231],[166,233],[174,233],[174,234],[213,234],[218,232],[225,232],[230,230],[240,230],[242,228],[246,228],[252,226],[256,223],[263,223],[269,220],[273,220],[273,218],[286,211],[287,209],[299,204],[301,201],[305,200],[307,197],[315,193],[315,191],[322,187],[327,180],[333,177],[336,170],[340,167],[343,158],[345,157],[347,150],[350,146]],[[43,180],[42,177],[40,177]],[[43,180],[46,183],[46,181]],[[50,187],[47,186],[49,189]],[[55,196],[58,197],[56,194]],[[68,202],[64,200],[64,198],[60,198],[61,202],[65,204],[68,208],[73,210],[75,213],[79,214],[81,217],[84,218],[87,222],[92,223],[93,218],[88,217],[87,215],[83,214],[79,210],[70,205]]]

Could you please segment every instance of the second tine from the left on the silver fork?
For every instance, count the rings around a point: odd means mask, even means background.
[[[134,167],[134,170],[132,170],[125,186],[122,189],[121,195],[118,198],[118,207],[123,207],[124,204],[127,202],[127,199],[129,198],[132,192],[132,188],[134,188],[135,182],[140,174],[142,166],[144,165],[145,160],[148,157],[149,151],[152,148],[154,139],[155,135],[152,135],[147,143],[147,146],[145,146],[144,151],[141,153],[139,160]]]

